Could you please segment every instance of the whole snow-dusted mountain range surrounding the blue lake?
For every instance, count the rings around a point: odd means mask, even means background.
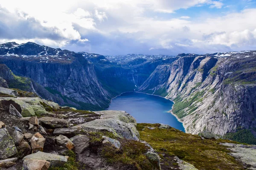
[[[8,42],[0,45],[0,63],[40,87],[29,91],[60,105],[103,110],[114,96],[141,91],[172,99],[188,133],[241,142],[256,136],[256,51],[105,57]]]

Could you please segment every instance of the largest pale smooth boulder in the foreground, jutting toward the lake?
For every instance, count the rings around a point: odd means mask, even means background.
[[[113,115],[111,114],[113,112]],[[81,124],[86,131],[107,130],[120,138],[139,141],[140,133],[136,129],[136,120],[125,111],[100,111],[101,119]],[[76,128],[74,126],[73,128]]]

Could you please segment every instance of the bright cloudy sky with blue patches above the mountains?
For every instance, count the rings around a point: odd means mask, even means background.
[[[256,50],[256,0],[0,0],[0,44],[102,55]]]

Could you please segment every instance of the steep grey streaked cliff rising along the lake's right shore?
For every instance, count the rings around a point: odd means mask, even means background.
[[[255,52],[227,56],[185,56],[159,65],[138,90],[173,99],[172,112],[189,133],[207,130],[223,136],[241,128],[254,133]]]

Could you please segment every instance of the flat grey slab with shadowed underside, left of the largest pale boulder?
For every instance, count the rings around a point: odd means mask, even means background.
[[[58,128],[58,127],[69,127],[70,123],[65,119],[58,119],[55,117],[42,117],[39,119],[44,127]]]

